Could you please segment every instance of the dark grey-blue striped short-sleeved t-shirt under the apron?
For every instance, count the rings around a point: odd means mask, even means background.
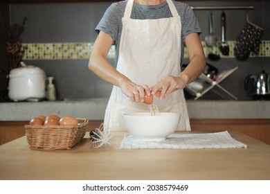
[[[201,29],[199,28],[195,14],[190,6],[179,1],[172,2],[181,17],[181,51],[183,57],[185,37],[190,33],[201,33]],[[112,3],[111,6],[107,8],[105,14],[96,27],[97,33],[104,31],[114,40],[113,45],[116,47],[116,64],[118,62],[120,37],[122,33],[122,17],[124,16],[126,4],[127,0]],[[145,6],[134,3],[132,8],[132,19],[161,19],[167,17],[172,17],[167,1],[156,6]]]

